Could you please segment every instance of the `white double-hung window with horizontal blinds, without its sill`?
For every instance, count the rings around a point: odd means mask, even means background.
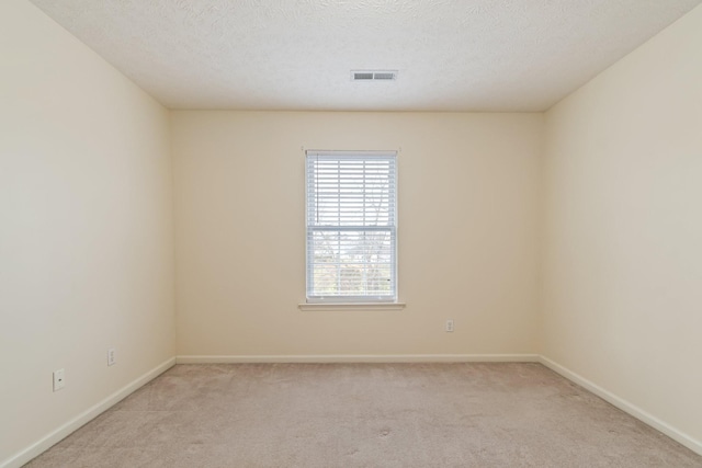
[[[397,300],[392,152],[307,151],[307,301]]]

